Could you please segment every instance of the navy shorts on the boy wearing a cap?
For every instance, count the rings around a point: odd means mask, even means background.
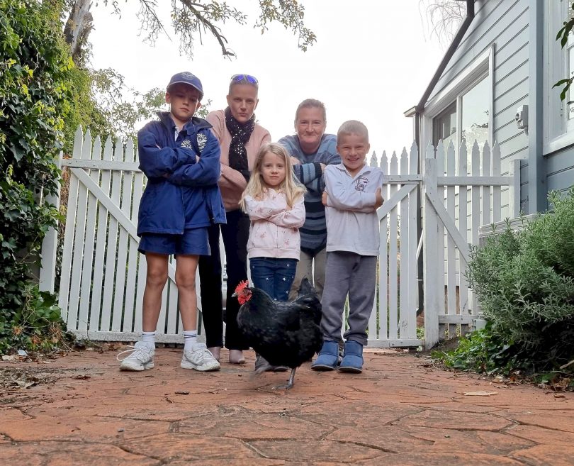
[[[166,255],[210,255],[208,229],[189,228],[183,235],[167,235],[164,233],[142,233],[140,253],[156,253]]]

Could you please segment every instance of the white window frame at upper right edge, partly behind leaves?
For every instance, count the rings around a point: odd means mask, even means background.
[[[544,13],[548,21],[544,24],[544,95],[543,113],[544,139],[542,154],[550,155],[553,152],[574,145],[574,120],[568,121],[566,117],[566,104],[560,100],[561,87],[552,88],[554,83],[568,75],[568,60],[565,49],[556,42],[556,33],[562,27],[565,13],[570,8],[567,0],[545,0]]]

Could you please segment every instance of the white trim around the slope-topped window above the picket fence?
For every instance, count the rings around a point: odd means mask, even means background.
[[[421,124],[421,154],[432,143],[432,120],[456,101],[457,131],[461,127],[460,97],[472,89],[488,74],[490,96],[488,99],[488,143],[493,141],[493,89],[494,44],[476,57],[461,73],[424,106]]]

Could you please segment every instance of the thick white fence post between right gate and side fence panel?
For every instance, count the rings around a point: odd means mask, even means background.
[[[441,167],[441,171],[444,170]],[[422,263],[424,287],[424,349],[432,348],[439,341],[439,309],[444,310],[444,291],[439,294],[437,274],[439,228],[434,208],[427,199],[427,187],[437,189],[437,160],[434,148],[429,143],[424,159],[424,174],[421,186],[422,199]],[[440,277],[443,279],[443,277]],[[443,311],[444,312],[444,311]]]

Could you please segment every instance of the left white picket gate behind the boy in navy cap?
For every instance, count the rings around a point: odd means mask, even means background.
[[[60,308],[67,328],[91,340],[137,340],[142,331],[146,264],[137,252],[137,210],[145,176],[130,140],[101,150],[99,138],[78,128],[69,169]],[[180,341],[181,319],[170,262],[157,341]]]

